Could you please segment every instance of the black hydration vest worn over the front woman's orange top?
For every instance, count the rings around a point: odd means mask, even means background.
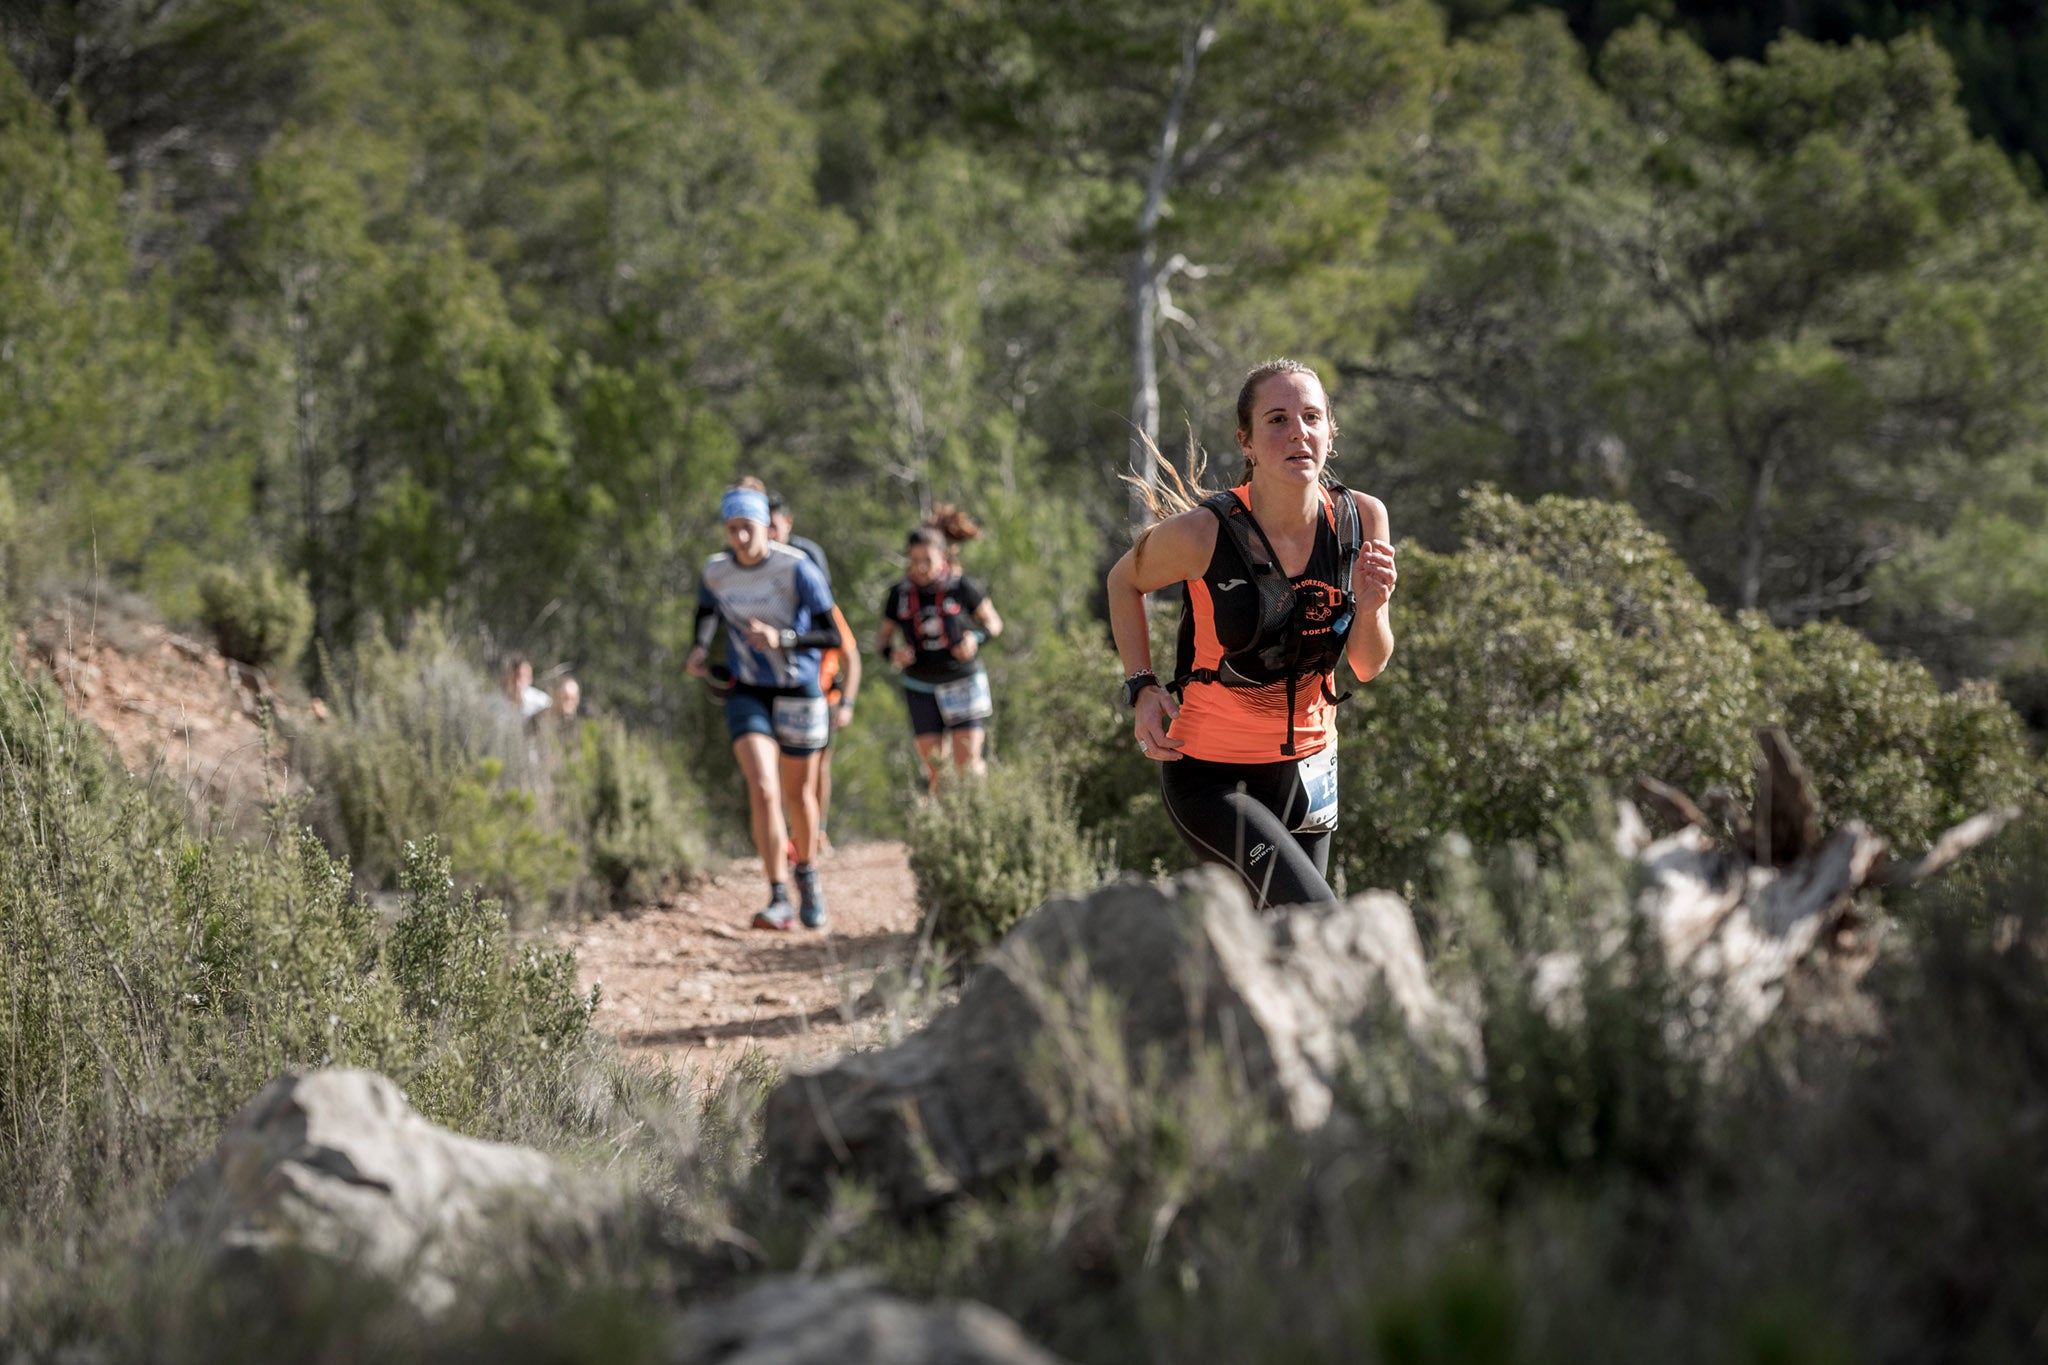
[[[1350,489],[1325,475],[1323,491],[1335,510],[1337,583],[1343,585],[1343,606],[1331,622],[1329,632],[1317,636],[1303,634],[1307,604],[1300,602],[1294,583],[1280,569],[1280,555],[1274,551],[1272,540],[1266,538],[1266,528],[1251,516],[1251,508],[1235,491],[1225,489],[1223,493],[1204,497],[1202,505],[1217,518],[1219,536],[1235,546],[1237,559],[1245,567],[1245,577],[1257,587],[1257,626],[1251,630],[1249,641],[1225,651],[1217,667],[1190,667],[1167,684],[1167,690],[1180,696],[1188,684],[1198,681],[1223,684],[1225,688],[1270,688],[1284,681],[1288,718],[1286,741],[1280,745],[1282,757],[1294,757],[1294,688],[1303,679],[1315,677],[1323,688],[1323,698],[1333,706],[1352,696],[1350,692],[1337,696],[1331,688],[1331,677],[1335,675],[1337,661],[1343,657],[1343,643],[1352,634],[1352,620],[1358,610],[1358,598],[1352,593],[1352,569],[1364,544],[1364,524]],[[1257,544],[1253,544],[1253,538],[1257,538]]]

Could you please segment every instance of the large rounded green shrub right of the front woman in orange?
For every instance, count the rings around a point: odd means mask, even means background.
[[[1624,505],[1479,489],[1462,534],[1456,555],[1403,551],[1393,663],[1337,712],[1331,862],[1352,890],[1423,884],[1450,833],[1550,855],[1638,774],[1747,790],[1767,722],[1833,819],[1907,851],[2038,782],[1989,690],[1942,694],[1841,626],[1726,620]]]

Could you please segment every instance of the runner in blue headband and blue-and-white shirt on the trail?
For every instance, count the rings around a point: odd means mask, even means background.
[[[807,929],[821,929],[815,774],[831,720],[817,686],[817,657],[840,639],[831,589],[817,565],[768,538],[768,493],[758,479],[733,485],[719,518],[729,548],[705,561],[696,645],[684,667],[709,677],[711,636],[723,620],[733,675],[725,733],[748,780],[754,849],[768,874],[768,907],[756,911],[754,927],[788,929],[801,915]],[[791,878],[801,911],[788,902]]]

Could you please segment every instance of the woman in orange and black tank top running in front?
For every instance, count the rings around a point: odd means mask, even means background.
[[[1139,749],[1174,827],[1243,876],[1260,909],[1335,900],[1335,669],[1370,681],[1393,657],[1386,508],[1325,475],[1337,424],[1323,381],[1272,360],[1237,395],[1245,473],[1147,487],[1161,520],[1110,569],[1110,628]],[[1145,593],[1186,585],[1174,677],[1151,665]],[[1346,694],[1348,696],[1348,694]]]

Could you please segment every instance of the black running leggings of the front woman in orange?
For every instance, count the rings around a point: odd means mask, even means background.
[[[1329,831],[1292,833],[1309,810],[1298,759],[1208,763],[1182,757],[1159,765],[1174,829],[1202,862],[1245,878],[1257,909],[1335,900],[1329,890]]]

